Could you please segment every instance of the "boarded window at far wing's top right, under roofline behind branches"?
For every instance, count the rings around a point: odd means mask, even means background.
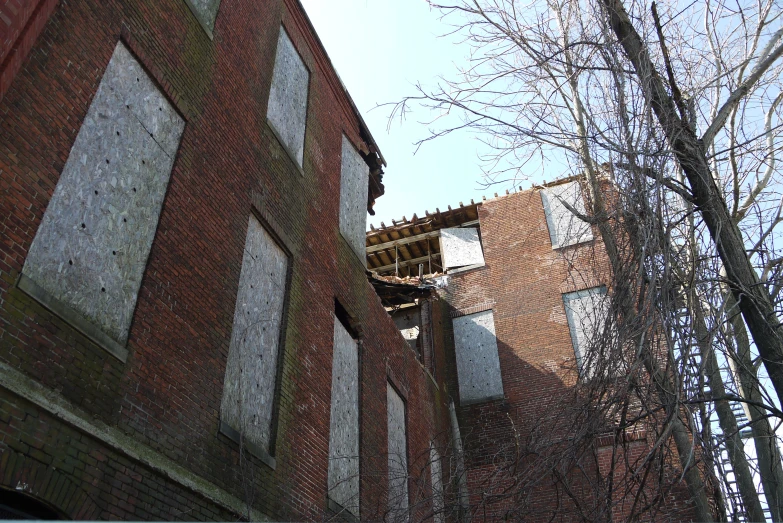
[[[546,223],[552,248],[559,249],[593,239],[590,225],[572,213],[564,202],[579,214],[585,213],[585,203],[579,182],[568,182],[541,191]]]

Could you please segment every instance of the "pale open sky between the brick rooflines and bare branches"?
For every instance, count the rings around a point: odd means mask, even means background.
[[[375,204],[367,227],[391,219],[408,219],[436,207],[487,198],[501,187],[482,189],[478,150],[482,144],[466,133],[425,144],[414,156],[413,142],[427,136],[433,114],[409,115],[391,124],[391,107],[415,93],[414,84],[433,84],[439,74],[451,76],[468,49],[453,38],[439,38],[448,26],[425,0],[301,0],[318,36],[362,113],[388,162],[386,194]],[[506,187],[502,187],[505,189]]]

